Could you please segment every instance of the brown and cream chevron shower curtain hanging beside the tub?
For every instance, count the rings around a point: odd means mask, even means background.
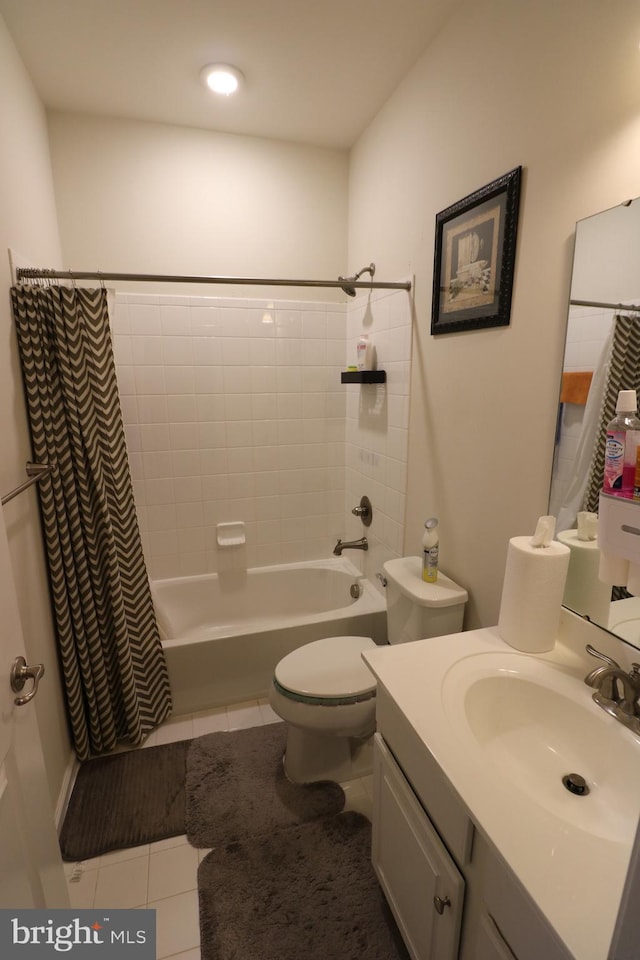
[[[80,760],[141,743],[171,712],[133,500],[107,294],[18,286],[11,299],[40,484],[70,727]]]

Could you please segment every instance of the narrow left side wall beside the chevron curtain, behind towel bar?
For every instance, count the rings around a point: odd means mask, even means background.
[[[60,244],[44,110],[0,18],[0,492],[25,479],[31,459],[18,350],[11,317],[8,249],[60,264]],[[44,663],[33,707],[55,806],[70,756],[53,638],[36,494],[4,507],[20,615],[30,663]]]

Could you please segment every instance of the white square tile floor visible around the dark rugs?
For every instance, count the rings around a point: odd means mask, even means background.
[[[170,720],[151,735],[145,747],[278,720],[266,700],[219,707]],[[371,817],[372,778],[342,786],[345,809]],[[196,850],[183,836],[65,864],[71,905],[152,908],[156,911],[157,960],[200,960],[197,869],[207,852]]]

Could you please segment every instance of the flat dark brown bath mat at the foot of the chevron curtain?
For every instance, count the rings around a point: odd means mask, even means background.
[[[63,860],[88,860],[185,833],[189,740],[87,760],[60,833]]]

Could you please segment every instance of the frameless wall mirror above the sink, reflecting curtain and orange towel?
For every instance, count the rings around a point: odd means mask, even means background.
[[[638,263],[640,199],[577,223],[549,512],[571,548],[565,606],[640,648],[640,597],[619,570],[599,579],[592,539],[606,425],[619,390],[640,397]]]

